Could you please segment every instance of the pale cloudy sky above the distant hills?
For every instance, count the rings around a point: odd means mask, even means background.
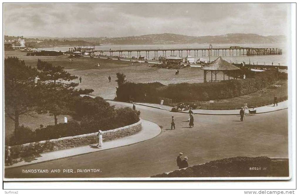
[[[287,35],[290,4],[4,4],[4,34],[49,37]]]

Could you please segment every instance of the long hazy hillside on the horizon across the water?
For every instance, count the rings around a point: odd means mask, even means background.
[[[53,45],[100,45],[100,44],[225,44],[225,43],[283,43],[285,36],[262,36],[257,34],[226,34],[217,36],[187,36],[171,33],[150,34],[129,37],[28,37],[31,47]],[[30,43],[30,44],[29,44]]]

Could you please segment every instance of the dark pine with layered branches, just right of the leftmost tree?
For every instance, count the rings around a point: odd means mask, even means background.
[[[57,125],[57,116],[71,112],[70,105],[78,95],[78,90],[74,90],[78,83],[70,81],[78,77],[71,75],[61,66],[53,66],[41,60],[37,61],[37,69],[41,71],[40,81],[43,83],[39,112],[53,115]]]

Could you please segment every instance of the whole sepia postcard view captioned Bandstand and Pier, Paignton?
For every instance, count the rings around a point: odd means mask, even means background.
[[[291,3],[3,3],[3,180],[289,180],[291,52]]]

